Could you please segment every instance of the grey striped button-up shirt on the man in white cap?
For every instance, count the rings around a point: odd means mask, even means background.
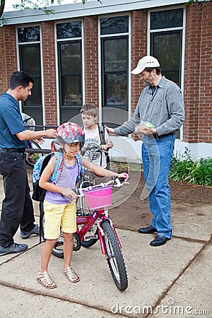
[[[125,136],[135,131],[140,122],[150,122],[155,126],[158,136],[161,136],[179,129],[183,121],[182,92],[177,84],[163,76],[153,95],[151,86],[142,90],[134,117],[114,129],[114,132],[119,136]]]

